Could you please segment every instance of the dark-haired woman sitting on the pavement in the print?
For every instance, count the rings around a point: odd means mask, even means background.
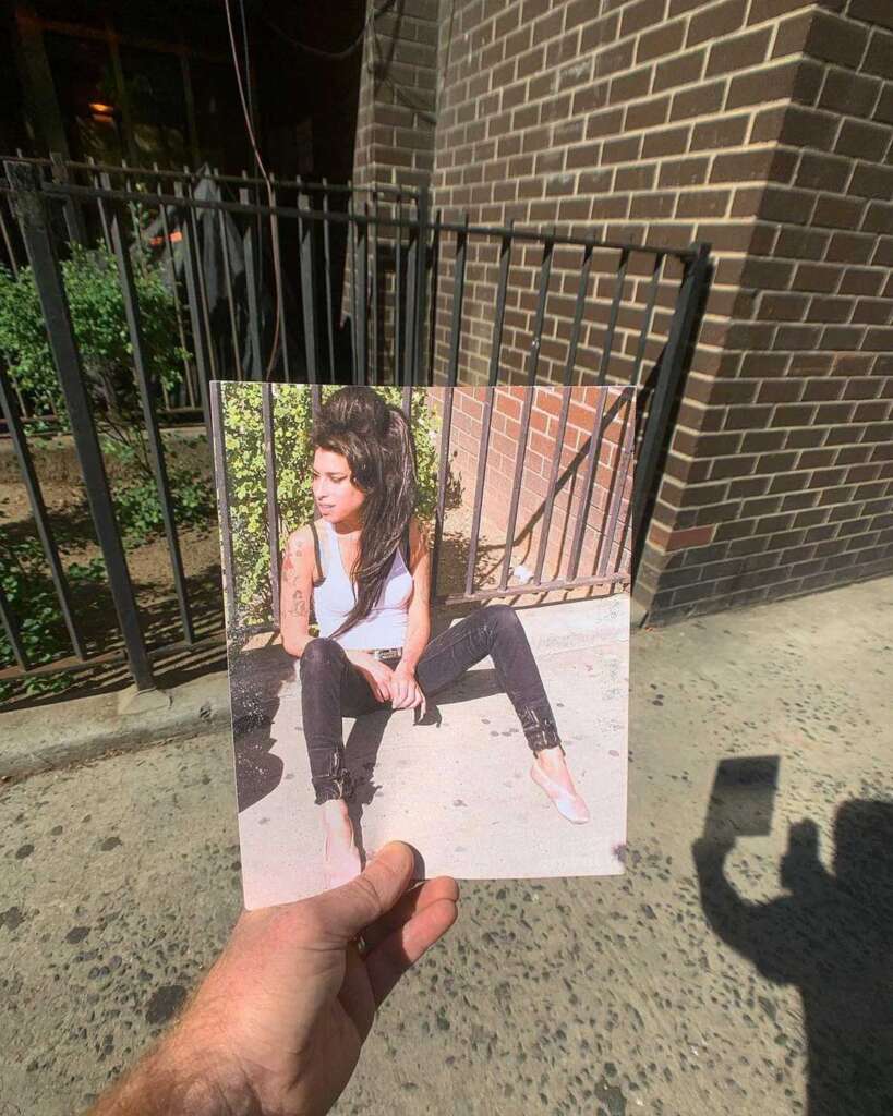
[[[480,608],[430,638],[431,558],[414,516],[415,456],[403,412],[368,387],[345,387],[321,407],[313,449],[319,518],[286,545],[281,633],[285,650],[300,661],[326,886],[362,868],[347,811],[342,719],[382,706],[424,714],[426,699],[487,655],[532,752],[531,779],[568,821],[588,821],[515,610]],[[317,637],[308,629],[311,609]]]

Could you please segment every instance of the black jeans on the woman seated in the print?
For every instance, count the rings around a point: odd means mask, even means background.
[[[415,667],[416,682],[425,698],[432,698],[487,655],[493,660],[499,684],[515,706],[534,754],[560,744],[527,635],[508,605],[480,608],[432,639]],[[351,787],[344,767],[342,718],[362,716],[388,705],[376,701],[363,674],[334,639],[307,644],[300,656],[300,684],[316,801],[346,798]]]

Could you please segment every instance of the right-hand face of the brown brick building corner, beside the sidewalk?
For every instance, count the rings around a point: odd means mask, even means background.
[[[791,99],[753,117],[771,171],[732,202],[753,231],[720,258],[728,310],[704,320],[661,487],[640,587],[656,619],[891,569],[891,30],[878,0],[776,30],[774,51],[804,49]]]

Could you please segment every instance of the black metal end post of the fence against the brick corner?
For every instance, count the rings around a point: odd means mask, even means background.
[[[647,424],[642,437],[642,448],[635,466],[633,481],[632,507],[632,545],[634,551],[641,554],[641,531],[644,525],[645,510],[649,504],[652,488],[657,473],[657,460],[663,449],[663,437],[670,412],[673,407],[676,389],[682,378],[682,362],[691,338],[694,315],[701,298],[707,269],[710,259],[710,244],[693,246],[694,258],[689,262],[682,279],[682,288],[676,301],[673,320],[670,325],[670,336],[660,362],[657,386],[649,408]]]

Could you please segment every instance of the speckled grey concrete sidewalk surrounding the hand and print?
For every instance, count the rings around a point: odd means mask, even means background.
[[[891,631],[887,578],[636,632],[626,875],[463,884],[339,1116],[444,1098],[463,1116],[889,1116],[871,1011],[893,949]],[[241,898],[230,749],[221,732],[3,791],[0,1110],[85,1105],[215,955]],[[769,833],[699,887],[717,766],[760,756],[780,760]]]

